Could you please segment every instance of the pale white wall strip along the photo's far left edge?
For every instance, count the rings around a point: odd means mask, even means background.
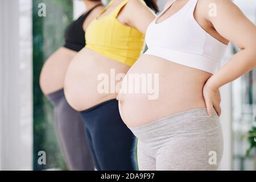
[[[0,169],[32,169],[32,1],[0,1]]]

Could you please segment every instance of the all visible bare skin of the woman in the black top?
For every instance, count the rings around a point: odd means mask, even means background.
[[[88,10],[101,3],[100,1],[89,0],[84,0],[83,2]],[[104,9],[103,6],[98,6],[92,11],[92,13],[90,13],[83,24],[84,31],[86,31],[88,24],[95,16],[98,15],[98,13],[100,13],[102,9]],[[57,51],[53,52],[51,56],[49,56],[40,73],[40,88],[45,95],[63,89],[68,66],[76,54],[76,51],[60,47]]]

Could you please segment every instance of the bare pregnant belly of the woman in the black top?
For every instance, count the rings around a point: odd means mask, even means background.
[[[76,51],[61,47],[47,59],[40,73],[40,88],[44,94],[63,88],[68,65],[76,53]]]

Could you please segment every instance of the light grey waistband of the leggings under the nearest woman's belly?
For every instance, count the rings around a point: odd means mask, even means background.
[[[206,108],[191,109],[170,115],[155,122],[139,127],[129,127],[133,134],[142,141],[152,141],[156,138],[166,138],[175,135],[198,133],[201,131],[215,130],[220,127],[218,115],[212,117]]]

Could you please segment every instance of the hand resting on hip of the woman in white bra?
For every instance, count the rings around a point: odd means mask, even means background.
[[[212,116],[214,109],[216,110],[218,116],[221,115],[221,107],[220,107],[220,102],[221,102],[221,96],[220,96],[220,91],[216,88],[213,88],[210,86],[208,81],[204,85],[203,88],[203,96],[204,96],[204,101],[207,106],[207,113]]]

